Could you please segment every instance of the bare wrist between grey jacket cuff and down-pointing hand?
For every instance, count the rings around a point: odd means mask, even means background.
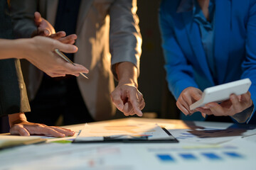
[[[138,69],[131,62],[120,62],[115,64],[119,84],[133,84],[138,87]]]

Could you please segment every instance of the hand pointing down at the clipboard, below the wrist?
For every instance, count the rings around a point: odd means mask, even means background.
[[[112,91],[111,98],[114,105],[122,111],[124,115],[139,115],[142,116],[142,109],[145,107],[145,102],[142,94],[133,84],[119,85]]]

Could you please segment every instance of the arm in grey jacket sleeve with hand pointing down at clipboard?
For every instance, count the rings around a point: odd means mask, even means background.
[[[145,103],[137,89],[142,37],[136,11],[136,0],[114,1],[110,7],[111,64],[114,77],[118,80],[111,97],[124,115],[142,116]]]

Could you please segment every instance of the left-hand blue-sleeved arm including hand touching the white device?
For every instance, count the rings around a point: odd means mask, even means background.
[[[198,89],[193,77],[193,67],[188,64],[188,60],[175,37],[175,26],[170,12],[170,10],[174,10],[175,3],[176,1],[162,1],[159,11],[159,25],[169,90],[177,100],[176,106],[188,115],[195,112],[191,111],[189,106],[201,98],[202,91]]]

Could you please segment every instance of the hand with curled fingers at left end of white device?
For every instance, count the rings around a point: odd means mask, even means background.
[[[202,94],[203,92],[200,89],[197,89],[195,87],[188,87],[181,92],[176,102],[176,106],[185,115],[191,115],[196,111],[191,111],[189,106],[191,106],[192,103],[198,101],[202,97]],[[203,117],[205,118],[206,115],[203,115]]]

